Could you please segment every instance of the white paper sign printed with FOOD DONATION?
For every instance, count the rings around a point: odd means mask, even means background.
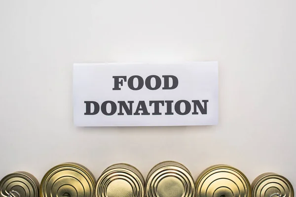
[[[119,101],[132,113],[128,115]],[[73,110],[74,125],[79,127],[217,125],[218,63],[74,64]]]

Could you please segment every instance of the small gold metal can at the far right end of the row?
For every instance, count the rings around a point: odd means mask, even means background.
[[[294,189],[285,177],[268,172],[253,181],[252,197],[294,197]]]

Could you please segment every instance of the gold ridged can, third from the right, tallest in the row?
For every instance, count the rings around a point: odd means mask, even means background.
[[[147,197],[194,197],[194,180],[189,170],[172,161],[155,165],[146,181]]]

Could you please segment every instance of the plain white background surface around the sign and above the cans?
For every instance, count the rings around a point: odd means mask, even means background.
[[[296,186],[295,0],[0,0],[0,177],[164,160]],[[219,125],[76,128],[73,63],[219,61]]]

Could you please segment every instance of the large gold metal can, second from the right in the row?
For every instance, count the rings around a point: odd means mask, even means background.
[[[196,180],[196,197],[251,197],[247,177],[229,165],[213,165]]]

